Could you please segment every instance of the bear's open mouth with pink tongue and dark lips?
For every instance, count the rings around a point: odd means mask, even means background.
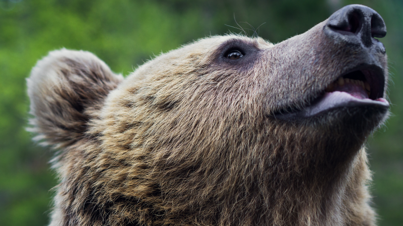
[[[385,77],[381,68],[361,66],[330,83],[323,93],[302,110],[275,114],[276,118],[307,118],[335,108],[375,106],[387,109],[383,98]]]

